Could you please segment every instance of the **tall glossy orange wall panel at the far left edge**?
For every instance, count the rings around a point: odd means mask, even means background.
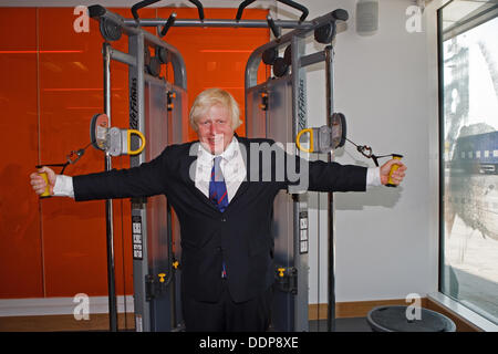
[[[38,197],[37,11],[0,11],[0,298],[43,296]]]

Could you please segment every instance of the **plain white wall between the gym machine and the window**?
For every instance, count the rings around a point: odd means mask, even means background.
[[[406,31],[405,11],[414,4],[409,0],[381,0],[380,30],[372,37],[355,32],[356,1],[302,3],[310,9],[309,19],[336,8],[349,11],[347,30],[335,43],[335,111],[346,115],[349,138],[378,155],[403,154],[408,167],[402,187],[335,194],[336,301],[403,299],[413,292],[425,296],[437,290],[437,81],[436,86],[429,82],[427,60],[436,59],[434,48],[427,51],[428,40],[435,44],[435,31],[428,38],[425,23],[419,33]],[[436,75],[435,66],[430,69]],[[323,76],[317,66],[308,77],[309,123],[314,126],[325,122]],[[338,150],[336,162],[373,166],[349,143]],[[320,239],[310,244],[310,302],[324,303],[326,212],[310,217],[321,220]]]

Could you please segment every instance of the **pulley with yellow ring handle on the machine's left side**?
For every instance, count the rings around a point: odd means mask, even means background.
[[[108,126],[105,114],[95,114],[90,124],[90,138],[93,147],[108,153],[111,156],[138,155],[145,148],[145,137],[136,129],[122,129]],[[141,146],[132,150],[132,135],[141,138]]]

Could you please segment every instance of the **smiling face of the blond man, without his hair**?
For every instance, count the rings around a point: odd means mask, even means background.
[[[197,121],[199,142],[212,155],[221,154],[234,138],[231,117],[227,107],[216,104]]]

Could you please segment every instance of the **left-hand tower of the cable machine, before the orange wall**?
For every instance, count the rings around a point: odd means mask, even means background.
[[[183,121],[187,115],[187,77],[181,55],[160,38],[136,23],[125,24],[121,15],[101,6],[90,7],[89,15],[100,22],[106,41],[102,48],[104,111],[110,119],[111,61],[128,66],[129,127],[147,138],[144,153],[131,157],[131,167],[155,158],[169,144],[184,143],[187,137],[187,126]],[[110,44],[122,34],[128,38],[127,53]],[[173,82],[160,77],[164,65],[172,66]],[[138,139],[132,136],[132,148],[137,144]],[[105,169],[111,168],[111,155],[106,152]],[[117,331],[112,200],[106,200],[106,223],[110,326],[111,331]],[[164,196],[132,200],[132,232],[135,329],[173,331],[181,323],[181,313],[176,311],[179,309],[178,260],[181,250],[178,220]]]

